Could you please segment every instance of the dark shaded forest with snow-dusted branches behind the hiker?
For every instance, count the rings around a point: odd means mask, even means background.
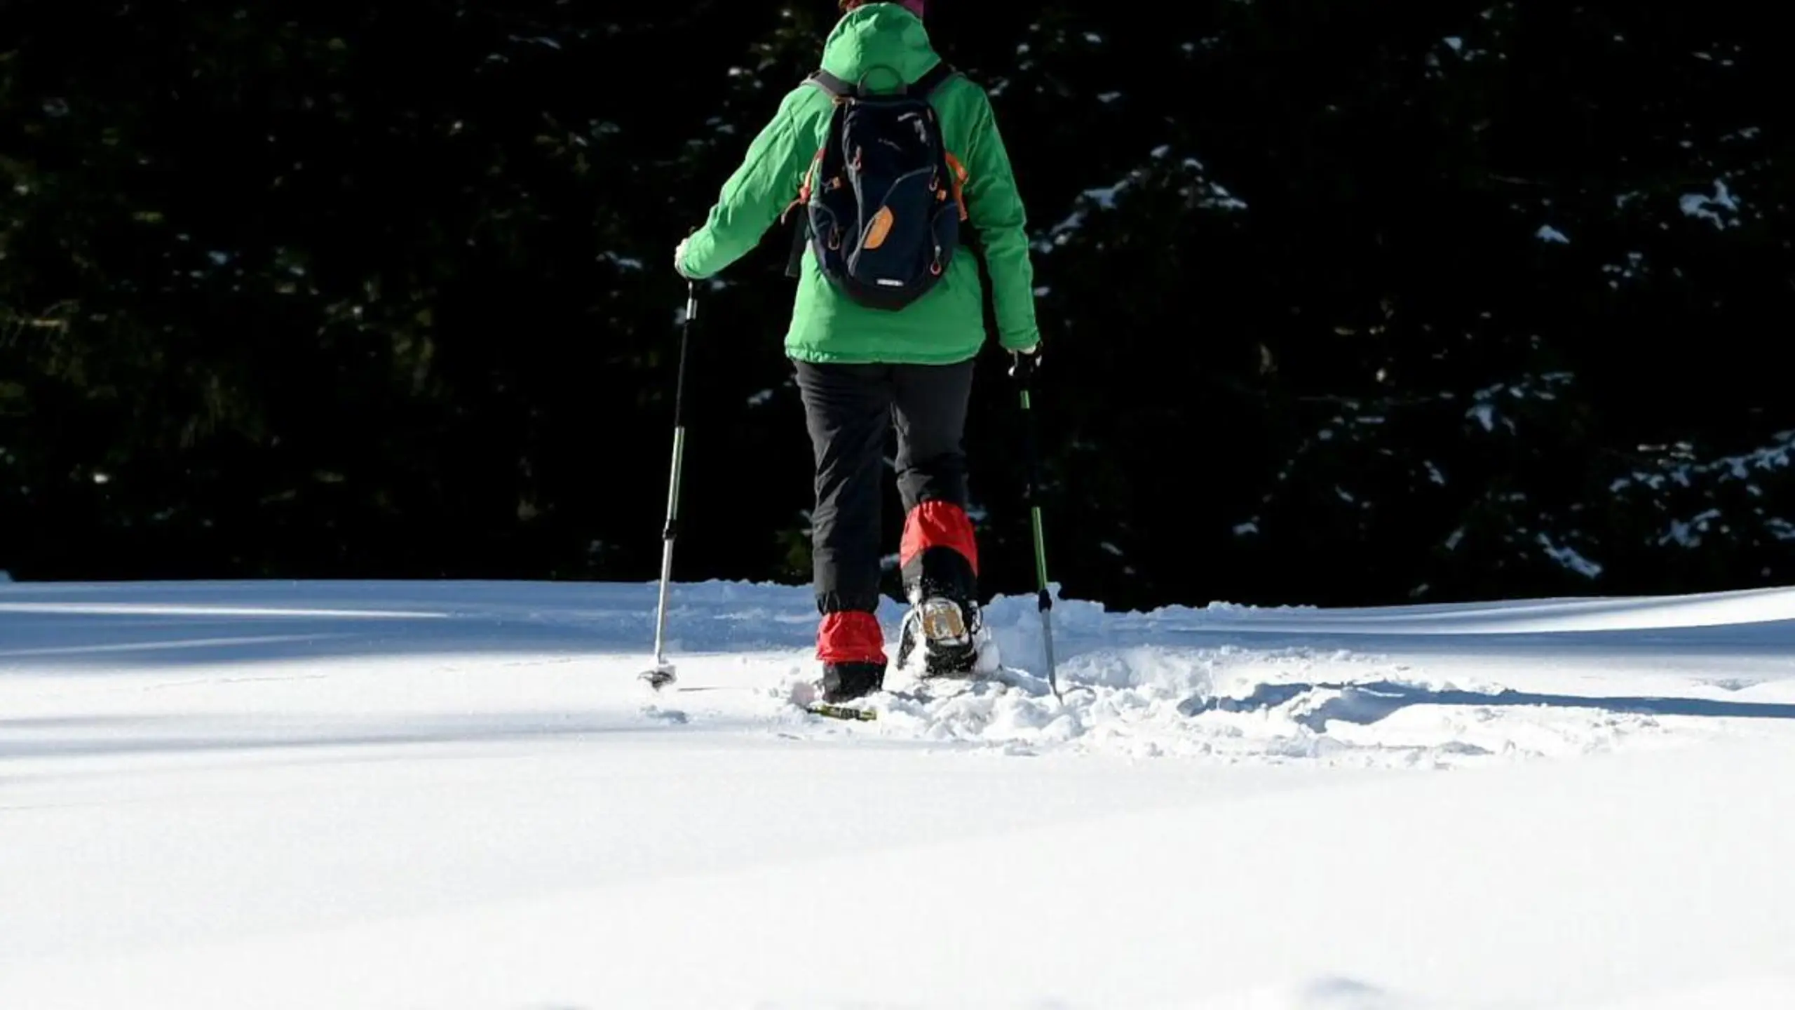
[[[1038,237],[1064,593],[1795,582],[1781,13],[935,0]],[[653,579],[671,252],[833,20],[0,4],[0,570]],[[700,288],[679,579],[808,579],[786,250]],[[1009,593],[1003,365],[969,451]]]

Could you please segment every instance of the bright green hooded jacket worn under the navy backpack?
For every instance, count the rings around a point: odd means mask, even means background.
[[[822,68],[874,90],[894,86],[889,66],[912,83],[941,58],[923,22],[898,4],[849,11],[829,32]],[[871,75],[869,75],[871,70]],[[930,99],[942,140],[964,165],[966,210],[991,273],[998,341],[1025,350],[1039,340],[1034,318],[1034,268],[1021,196],[998,135],[985,90],[950,77]],[[804,173],[829,131],[831,97],[815,86],[793,88],[772,122],[749,146],[702,228],[686,243],[682,273],[705,279],[752,252],[797,198]],[[793,212],[797,216],[797,212]],[[790,217],[788,217],[790,223]],[[964,239],[971,235],[962,232]],[[806,250],[784,347],[813,363],[948,365],[978,354],[985,341],[984,280],[973,250],[962,244],[935,288],[901,311],[854,304],[822,275]]]

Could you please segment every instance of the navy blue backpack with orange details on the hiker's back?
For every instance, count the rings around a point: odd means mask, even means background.
[[[928,97],[951,75],[953,66],[941,61],[914,84],[885,93],[869,92],[865,77],[858,86],[826,70],[806,79],[835,99],[835,111],[786,208],[804,214],[792,277],[806,241],[822,273],[874,309],[903,309],[946,275],[966,219],[966,169],[948,153]]]

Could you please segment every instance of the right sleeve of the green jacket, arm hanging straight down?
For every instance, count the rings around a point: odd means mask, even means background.
[[[1029,214],[1016,190],[1009,151],[998,133],[991,99],[978,92],[971,147],[966,162],[966,212],[978,228],[991,273],[991,302],[998,343],[1025,350],[1041,340],[1034,320],[1034,264],[1029,261]]]

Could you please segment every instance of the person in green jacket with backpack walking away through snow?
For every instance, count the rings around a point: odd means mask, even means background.
[[[921,651],[924,676],[991,665],[962,449],[987,340],[978,262],[953,255],[968,226],[991,275],[998,343],[1016,368],[1036,367],[1041,345],[1027,214],[987,92],[933,50],[924,0],[840,7],[820,72],[784,95],[673,255],[687,280],[714,277],[799,216],[784,350],[815,455],[824,701],[885,685],[880,501],[894,428],[910,600],[898,661]],[[880,95],[910,101],[881,106]]]

